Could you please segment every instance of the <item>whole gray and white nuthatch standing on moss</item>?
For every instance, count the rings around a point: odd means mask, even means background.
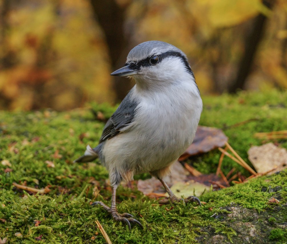
[[[87,146],[84,156],[75,162],[99,158],[109,172],[113,187],[111,207],[101,205],[115,220],[141,223],[131,214],[119,214],[116,190],[121,181],[149,172],[157,177],[171,202],[180,201],[163,177],[192,143],[202,100],[187,56],[177,47],[161,41],[143,42],[127,56],[125,66],[111,73],[135,80],[135,86],[107,121],[98,146]],[[190,196],[185,202],[200,201]]]

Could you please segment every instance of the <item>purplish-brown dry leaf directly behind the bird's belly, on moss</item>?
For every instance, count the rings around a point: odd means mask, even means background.
[[[228,138],[221,129],[198,126],[193,143],[179,157],[179,161],[183,161],[189,156],[199,153],[209,152],[218,147],[222,147]]]

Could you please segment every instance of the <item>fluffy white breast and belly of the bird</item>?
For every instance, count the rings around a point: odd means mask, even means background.
[[[135,89],[134,95],[140,103],[133,123],[103,147],[108,169],[122,168],[132,175],[162,169],[177,160],[193,141],[202,110],[193,82],[148,94]]]

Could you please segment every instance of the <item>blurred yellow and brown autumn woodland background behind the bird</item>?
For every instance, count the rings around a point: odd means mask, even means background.
[[[183,50],[201,94],[287,88],[286,0],[0,0],[0,109],[115,104],[147,40]]]

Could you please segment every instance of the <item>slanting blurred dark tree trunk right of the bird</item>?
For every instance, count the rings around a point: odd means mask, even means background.
[[[269,9],[272,9],[274,2],[274,0],[263,0],[263,4]],[[245,40],[245,51],[239,65],[236,78],[229,86],[228,92],[235,93],[238,89],[244,89],[246,79],[251,71],[257,48],[265,31],[266,21],[267,17],[262,13],[260,13],[254,19],[254,24],[251,28],[250,34]]]

